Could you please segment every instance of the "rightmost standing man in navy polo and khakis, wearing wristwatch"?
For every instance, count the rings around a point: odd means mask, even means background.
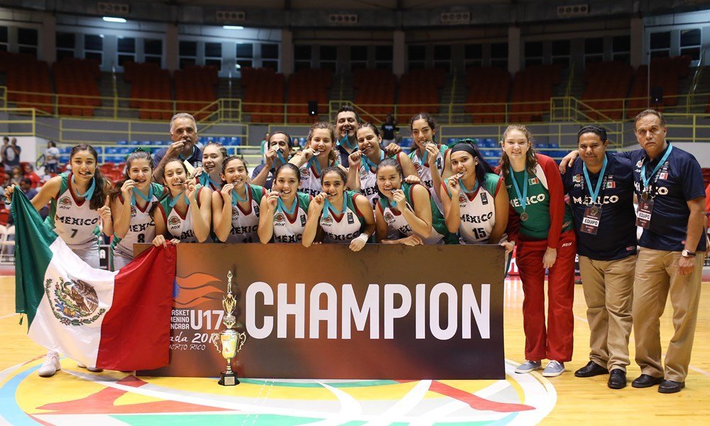
[[[660,112],[647,109],[635,120],[643,150],[628,153],[643,227],[636,264],[633,331],[641,376],[631,386],[660,383],[660,393],[685,387],[693,348],[706,237],[705,190],[698,161],[666,141]],[[661,364],[660,316],[670,293],[674,334]]]

